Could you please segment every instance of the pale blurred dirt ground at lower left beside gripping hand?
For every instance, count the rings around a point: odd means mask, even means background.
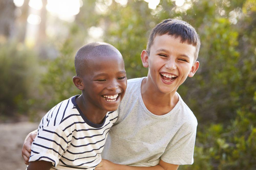
[[[39,123],[0,123],[0,170],[26,169],[21,149],[27,134],[38,128]]]

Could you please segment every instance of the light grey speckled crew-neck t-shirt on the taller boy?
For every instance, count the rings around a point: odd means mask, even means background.
[[[128,80],[102,158],[131,166],[155,166],[160,159],[177,165],[192,164],[196,117],[178,93],[179,101],[169,113],[158,116],[148,111],[141,96],[143,79]]]

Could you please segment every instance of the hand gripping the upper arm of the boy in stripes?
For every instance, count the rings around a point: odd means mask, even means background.
[[[22,157],[26,165],[29,164],[28,160],[29,160],[29,156],[31,155],[31,144],[35,139],[36,135],[37,135],[36,131],[30,132],[24,140],[24,144],[22,147]]]

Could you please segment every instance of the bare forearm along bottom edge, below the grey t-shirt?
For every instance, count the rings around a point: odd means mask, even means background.
[[[109,160],[102,160],[95,170],[177,170],[179,165],[169,164],[160,159],[159,164],[151,167],[138,167],[115,164]]]

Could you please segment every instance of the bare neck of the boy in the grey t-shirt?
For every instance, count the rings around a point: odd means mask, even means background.
[[[148,77],[142,81],[141,95],[146,108],[155,115],[170,112],[179,101],[176,91],[161,93]]]

